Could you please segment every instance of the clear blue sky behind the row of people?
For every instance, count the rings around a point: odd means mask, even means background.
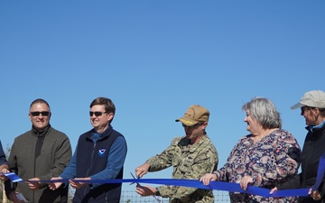
[[[91,128],[89,104],[109,97],[113,127],[125,135],[125,178],[172,138],[193,104],[210,111],[207,132],[220,168],[247,134],[241,106],[274,101],[283,128],[303,143],[303,93],[325,89],[325,1],[0,2],[1,141],[31,128],[42,97],[51,125],[74,150]],[[170,178],[172,170],[145,178]],[[124,185],[124,189],[135,186]]]

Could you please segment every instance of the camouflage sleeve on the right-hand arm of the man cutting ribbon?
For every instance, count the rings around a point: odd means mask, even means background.
[[[210,142],[204,139],[195,152],[191,152],[186,158],[172,161],[173,179],[199,180],[206,173],[215,171],[218,167],[218,152]],[[205,196],[206,189],[187,188],[179,186],[161,186],[158,190],[163,198],[194,198],[193,196]],[[195,194],[193,194],[195,193]]]

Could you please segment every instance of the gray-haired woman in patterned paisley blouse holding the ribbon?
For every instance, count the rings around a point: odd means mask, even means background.
[[[282,129],[280,114],[271,100],[255,97],[242,109],[250,134],[239,139],[221,169],[205,174],[200,181],[204,185],[218,180],[239,183],[242,189],[248,185],[272,189],[297,174],[300,146],[291,133]],[[238,192],[229,192],[229,197],[232,203],[297,201],[295,197],[269,198]]]

